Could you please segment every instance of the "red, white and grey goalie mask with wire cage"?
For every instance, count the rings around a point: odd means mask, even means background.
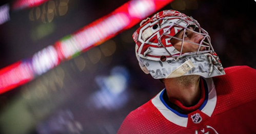
[[[143,20],[132,37],[141,69],[155,79],[225,74],[209,34],[178,11],[165,10]]]

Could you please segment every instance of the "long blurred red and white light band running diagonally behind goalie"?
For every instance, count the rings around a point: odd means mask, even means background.
[[[52,46],[37,52],[32,58],[16,62],[0,70],[0,94],[54,68],[61,61],[85,52],[116,34],[133,27],[143,18],[163,8],[173,0],[133,0],[112,13],[93,21],[81,30],[63,37]]]

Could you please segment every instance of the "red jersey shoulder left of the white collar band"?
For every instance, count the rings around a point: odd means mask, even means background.
[[[152,100],[152,99],[151,99]],[[160,111],[148,101],[139,108],[131,111],[125,118],[118,133],[173,133],[180,126],[168,121]]]

